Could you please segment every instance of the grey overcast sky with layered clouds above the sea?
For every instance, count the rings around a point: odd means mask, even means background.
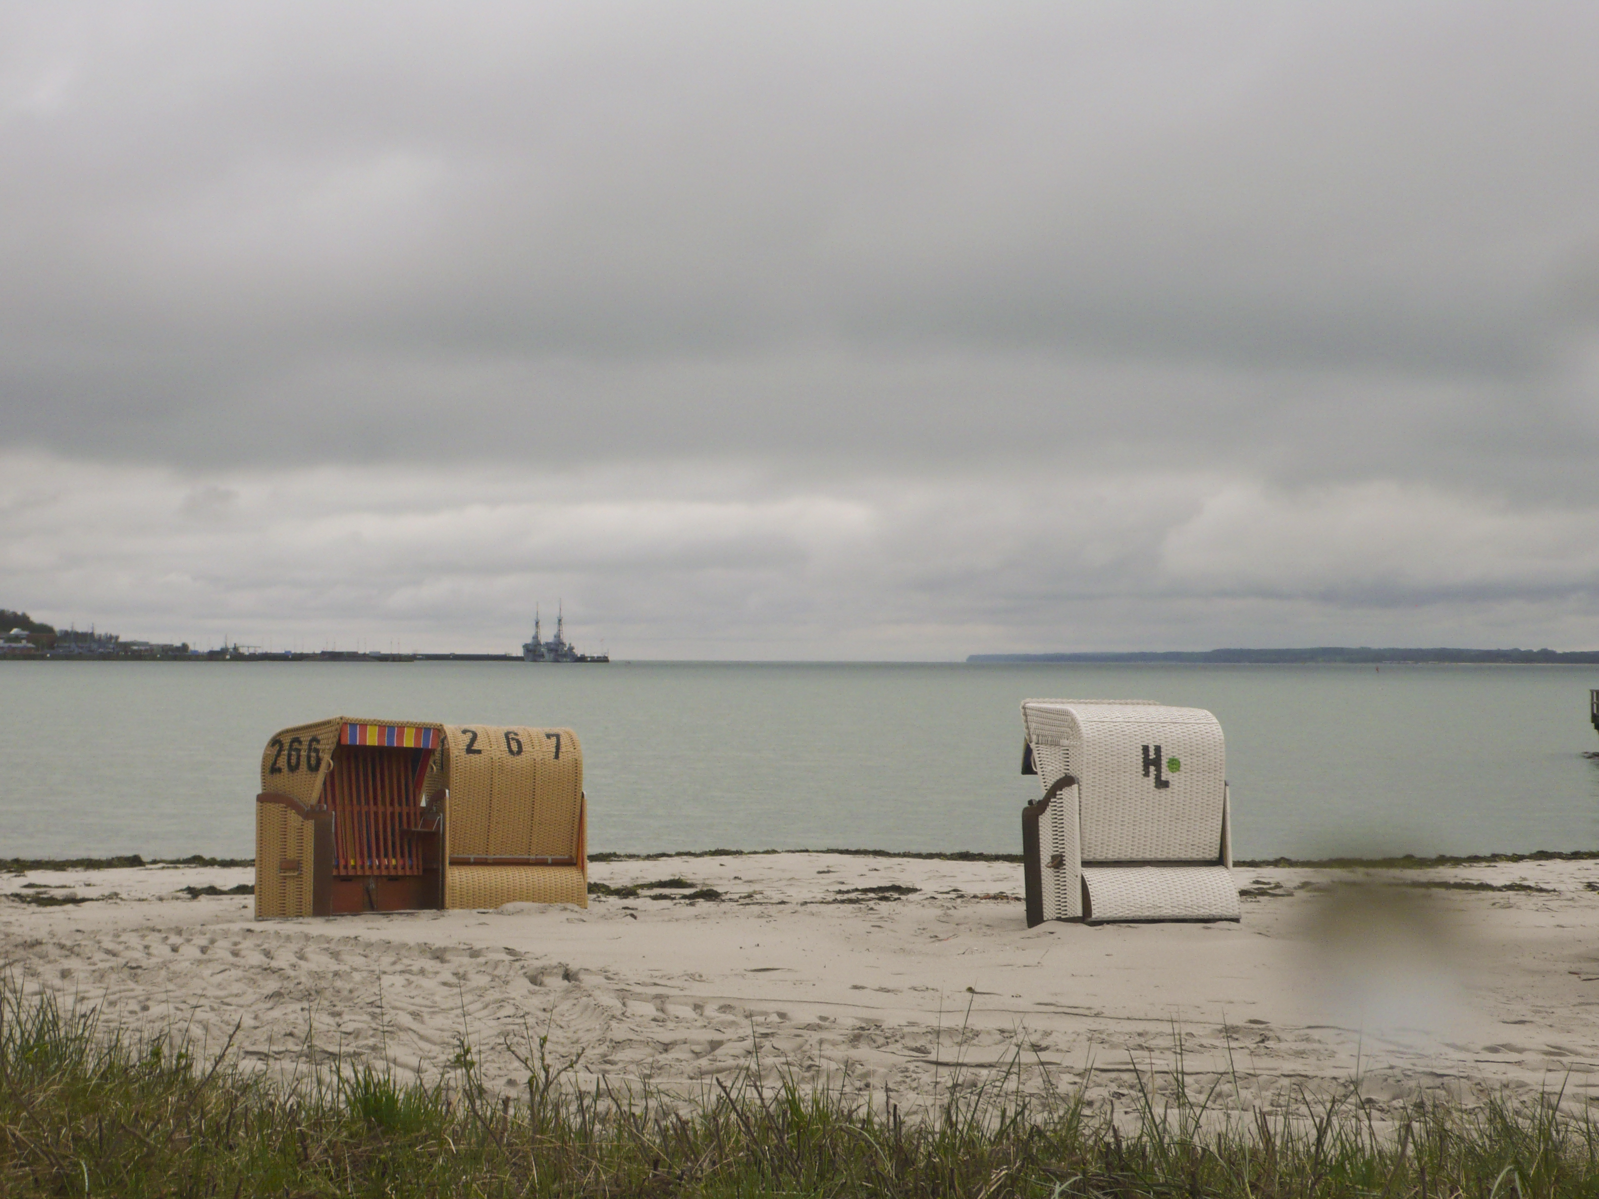
[[[1593,3],[0,6],[0,606],[1599,647]]]

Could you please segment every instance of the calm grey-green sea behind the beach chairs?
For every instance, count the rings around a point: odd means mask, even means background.
[[[1239,857],[1599,847],[1581,667],[0,663],[0,857],[254,852],[320,716],[569,724],[590,847],[1017,852],[1027,697],[1226,732]]]

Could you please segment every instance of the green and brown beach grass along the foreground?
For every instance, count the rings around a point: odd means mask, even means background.
[[[1271,1111],[1194,1097],[1180,1058],[1121,1113],[1027,1098],[1025,1063],[950,1078],[931,1109],[790,1078],[684,1101],[577,1085],[528,1036],[516,1097],[461,1041],[432,1082],[369,1063],[272,1079],[181,1030],[102,1026],[0,982],[5,1196],[1094,1196],[1543,1199],[1599,1194],[1599,1137],[1546,1093],[1372,1117],[1351,1085]]]

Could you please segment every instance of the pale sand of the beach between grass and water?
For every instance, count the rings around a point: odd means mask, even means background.
[[[1358,1071],[1378,1105],[1561,1085],[1578,1101],[1599,1068],[1599,862],[1396,876],[1543,892],[1241,870],[1273,892],[1246,897],[1241,924],[1038,929],[1012,865],[774,854],[592,871],[611,886],[675,874],[728,898],[259,922],[249,897],[174,895],[248,870],[37,871],[0,892],[118,898],[0,898],[0,958],[29,990],[130,1025],[171,1018],[211,1050],[237,1023],[245,1060],[278,1070],[342,1054],[433,1079],[464,1038],[510,1090],[528,1078],[510,1050],[545,1031],[552,1058],[580,1052],[579,1076],[612,1085],[707,1087],[758,1049],[766,1076],[838,1085],[847,1071],[851,1089],[923,1100],[956,1063],[971,1079],[1020,1050],[1030,1089],[1092,1068],[1089,1097],[1124,1105],[1134,1063],[1170,1070],[1178,1036],[1190,1078],[1222,1074],[1230,1105]],[[838,902],[886,884],[919,890]]]

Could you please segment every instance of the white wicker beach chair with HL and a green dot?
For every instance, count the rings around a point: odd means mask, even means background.
[[[1226,745],[1202,708],[1025,700],[1028,927],[1047,919],[1236,921]]]

